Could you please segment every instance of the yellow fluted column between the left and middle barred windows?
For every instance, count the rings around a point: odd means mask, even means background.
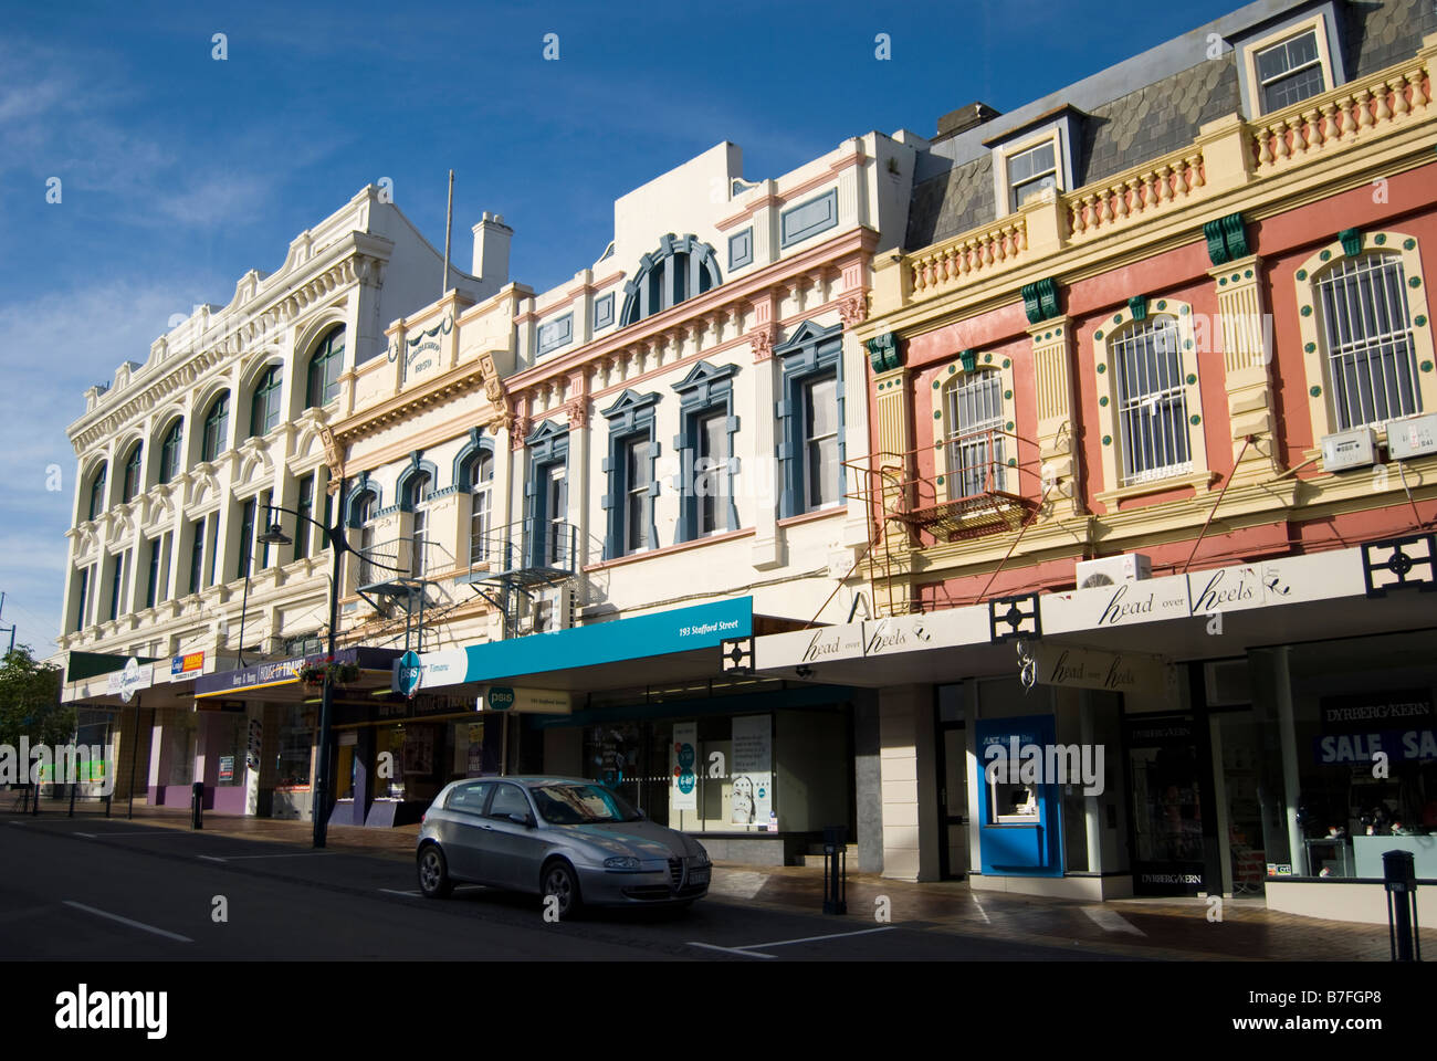
[[[1038,459],[1048,500],[1046,515],[1066,519],[1082,513],[1082,483],[1072,436],[1073,329],[1058,312],[1058,286],[1049,277],[1023,288],[1027,334],[1033,338],[1038,398]]]

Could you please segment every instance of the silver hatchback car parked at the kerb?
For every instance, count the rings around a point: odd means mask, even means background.
[[[697,840],[575,778],[450,782],[424,814],[417,857],[430,899],[489,884],[555,896],[560,919],[581,904],[688,906],[711,873]]]

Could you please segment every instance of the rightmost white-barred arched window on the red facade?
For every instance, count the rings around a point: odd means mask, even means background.
[[[1400,254],[1345,257],[1313,280],[1338,431],[1423,411]]]

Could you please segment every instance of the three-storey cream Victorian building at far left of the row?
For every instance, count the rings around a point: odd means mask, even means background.
[[[481,292],[441,272],[438,252],[366,187],[300,233],[277,270],[250,270],[228,305],[198,306],[144,364],[86,391],[68,433],[79,474],[59,647],[72,661],[65,696],[85,704],[119,703],[103,674],[115,664],[93,654],[157,661],[111,735],[121,795],[134,778],[151,802],[188,802],[203,781],[217,809],[303,811],[303,706],[197,712],[195,679],[318,646],[323,536],[262,543],[266,506],[322,519],[329,424],[352,411],[356,371],[384,362],[384,323],[443,288]]]

